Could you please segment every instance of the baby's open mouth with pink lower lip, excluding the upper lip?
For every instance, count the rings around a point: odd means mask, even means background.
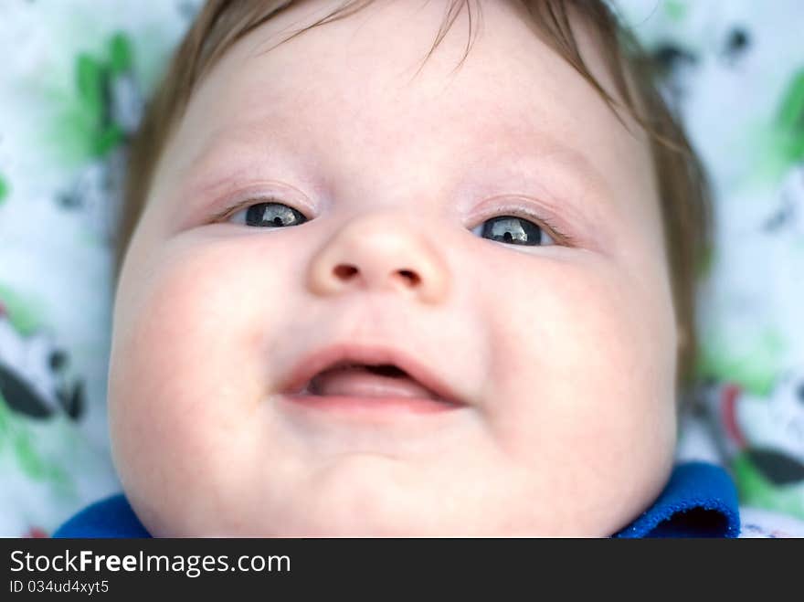
[[[443,412],[464,407],[439,398],[393,364],[339,364],[314,375],[289,396],[307,407],[331,411]]]

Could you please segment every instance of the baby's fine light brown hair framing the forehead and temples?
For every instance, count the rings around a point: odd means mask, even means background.
[[[280,44],[313,27],[353,15],[373,1],[344,0],[332,13],[285,38]],[[682,125],[657,89],[658,66],[640,48],[633,34],[619,23],[603,0],[521,2],[538,34],[598,91],[618,119],[622,121],[618,109],[627,111],[649,135],[660,194],[664,243],[670,264],[673,307],[682,333],[676,377],[680,387],[689,385],[694,378],[698,348],[695,325],[697,282],[699,270],[705,267],[709,255],[713,219],[703,165],[693,152]],[[175,51],[161,85],[146,108],[140,129],[132,140],[115,249],[116,278],[120,275],[122,260],[134,228],[143,213],[156,165],[167,141],[182,120],[193,90],[240,38],[297,4],[298,0],[207,0],[196,16]],[[425,61],[438,48],[464,7],[469,16],[471,39],[472,2],[452,0]],[[476,5],[475,10],[479,12],[480,5]],[[581,16],[592,26],[622,103],[605,90],[587,68],[570,26],[570,14]],[[468,42],[461,64],[469,50]],[[635,88],[636,95],[631,93],[629,84]]]

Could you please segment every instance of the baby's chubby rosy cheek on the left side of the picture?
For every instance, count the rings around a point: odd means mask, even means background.
[[[271,328],[271,283],[233,269],[233,259],[212,247],[165,254],[122,282],[110,371],[113,453],[156,532],[181,528],[174,514],[188,512],[185,496],[199,487],[204,496],[193,508],[202,513],[221,502],[217,491],[239,491],[232,469],[259,453],[259,340]]]

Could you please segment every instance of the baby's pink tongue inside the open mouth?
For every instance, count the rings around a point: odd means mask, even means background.
[[[310,381],[310,392],[319,396],[438,399],[409,376],[376,375],[365,368],[327,370]]]

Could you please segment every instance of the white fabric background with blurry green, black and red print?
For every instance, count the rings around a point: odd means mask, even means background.
[[[744,536],[804,535],[804,4],[617,0],[713,176],[704,357],[680,458],[723,464]],[[106,431],[126,141],[196,0],[3,0],[0,536],[119,491]]]

